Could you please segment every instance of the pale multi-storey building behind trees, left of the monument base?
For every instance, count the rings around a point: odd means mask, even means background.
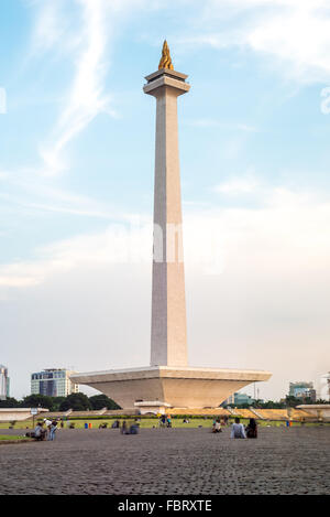
[[[73,383],[68,369],[50,368],[31,375],[31,394],[48,397],[67,397],[79,391],[79,385]]]

